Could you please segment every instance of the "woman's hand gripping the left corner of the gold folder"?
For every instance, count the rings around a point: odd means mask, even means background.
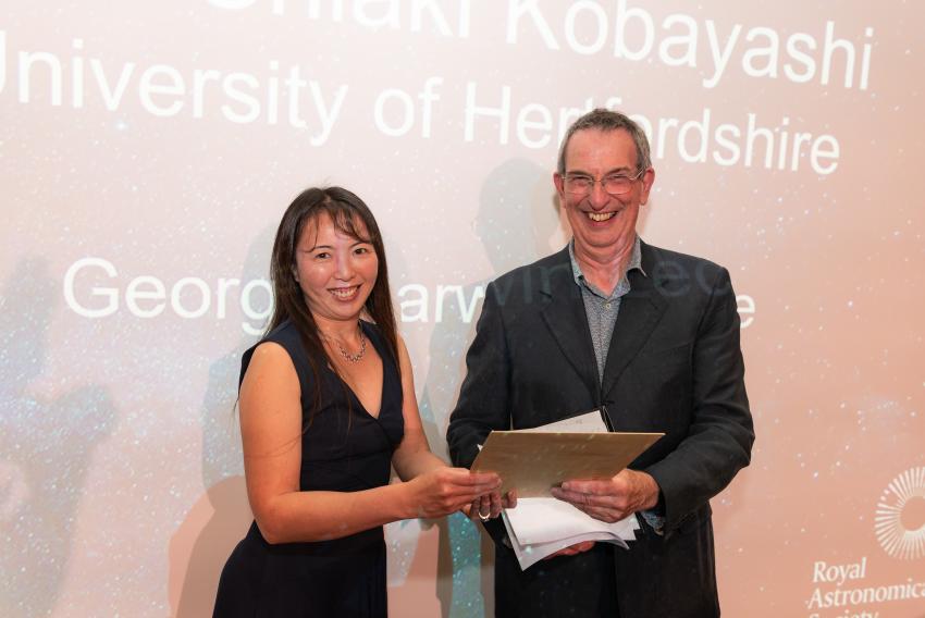
[[[481,502],[497,493],[501,478],[492,472],[470,472],[465,468],[435,468],[408,481],[411,492],[409,518],[433,519]]]

